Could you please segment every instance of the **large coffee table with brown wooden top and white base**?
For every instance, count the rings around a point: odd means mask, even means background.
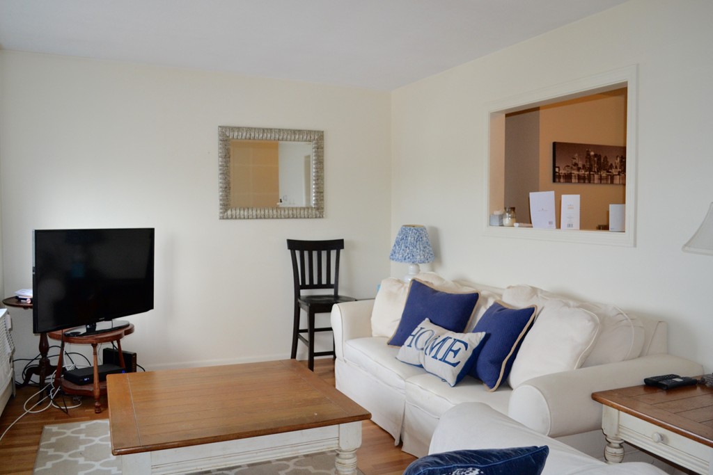
[[[356,474],[359,406],[295,360],[107,377],[122,474],[170,474],[337,450]]]

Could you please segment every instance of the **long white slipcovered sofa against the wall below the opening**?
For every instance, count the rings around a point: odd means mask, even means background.
[[[448,409],[463,402],[483,402],[540,434],[600,457],[605,444],[600,430],[602,409],[591,399],[592,392],[641,384],[651,375],[699,375],[703,371],[696,362],[667,354],[667,325],[662,321],[636,318],[613,306],[577,302],[530,286],[465,286],[435,273],[421,273],[417,278],[441,291],[462,293],[475,288],[480,293],[464,331],[470,331],[495,301],[518,308],[533,303],[540,309],[549,306],[548,302],[563,301],[568,308],[594,314],[597,328],[578,360],[563,361],[560,368],[545,367],[544,371],[535,368],[533,377],[528,378],[523,375],[523,367],[539,358],[530,356],[533,348],[523,356],[525,342],[530,338],[535,343],[535,328],[547,329],[544,310],[538,310],[538,318],[513,363],[513,372],[518,366],[515,387],[507,383],[489,391],[470,376],[451,387],[423,368],[396,359],[399,348],[386,344],[386,333],[401,318],[408,294],[405,283],[384,279],[375,300],[334,306],[331,320],[337,389],[368,409],[371,419],[394,437],[394,443],[403,442],[403,450],[415,456],[428,453],[438,419]],[[560,326],[558,330],[569,328]],[[591,328],[588,331],[591,333]],[[553,348],[566,348],[579,336],[553,335],[540,350],[546,354]],[[555,366],[560,359],[555,358]],[[548,371],[550,374],[543,374]]]

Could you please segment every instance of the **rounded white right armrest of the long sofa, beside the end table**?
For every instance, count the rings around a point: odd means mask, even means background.
[[[702,372],[702,365],[682,357],[649,355],[534,377],[513,390],[508,415],[550,437],[589,432],[602,427],[602,405],[593,392],[641,385],[648,376]]]

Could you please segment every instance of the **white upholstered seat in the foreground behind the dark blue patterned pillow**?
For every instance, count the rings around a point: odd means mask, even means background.
[[[463,449],[506,449],[542,447],[550,453],[542,475],[665,475],[667,472],[645,462],[606,464],[573,447],[524,427],[482,402],[458,404],[438,422],[429,454]],[[655,463],[661,464],[660,461]]]

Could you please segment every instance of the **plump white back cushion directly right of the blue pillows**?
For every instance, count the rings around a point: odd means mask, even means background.
[[[514,389],[533,377],[576,370],[592,353],[599,328],[594,313],[565,301],[545,301],[520,345],[508,383]]]

